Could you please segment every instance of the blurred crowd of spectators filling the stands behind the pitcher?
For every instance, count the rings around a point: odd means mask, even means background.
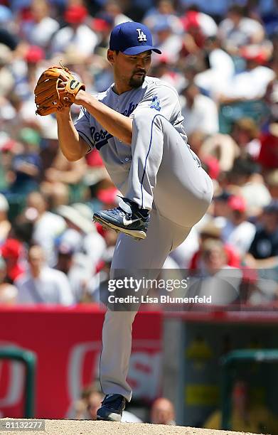
[[[119,192],[96,150],[77,162],[63,157],[55,116],[36,116],[33,89],[59,61],[88,92],[107,89],[109,34],[132,20],[151,28],[163,54],[153,54],[149,75],[176,87],[188,142],[215,187],[208,213],[165,267],[206,276],[238,268],[252,284],[244,301],[273,304],[276,0],[0,1],[0,303],[97,300],[117,235],[93,224],[92,213],[117,206]],[[78,112],[73,105],[73,119]]]

